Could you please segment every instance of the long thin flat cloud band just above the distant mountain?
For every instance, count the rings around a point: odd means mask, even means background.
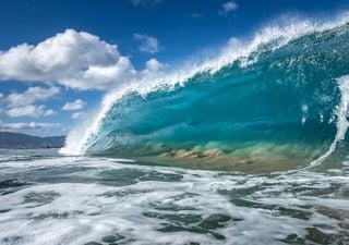
[[[38,123],[38,122],[28,122],[28,123],[2,123],[0,121],[0,130],[2,131],[20,131],[20,130],[53,130],[61,128],[60,123]]]

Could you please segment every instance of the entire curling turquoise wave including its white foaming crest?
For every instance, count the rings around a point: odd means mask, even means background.
[[[285,22],[125,81],[61,152],[256,171],[342,159],[333,154],[348,128],[348,14]]]

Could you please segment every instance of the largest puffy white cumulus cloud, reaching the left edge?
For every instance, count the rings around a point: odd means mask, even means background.
[[[116,45],[74,29],[67,29],[36,46],[22,44],[0,51],[2,81],[103,90],[128,81],[134,73],[129,58],[120,56]]]

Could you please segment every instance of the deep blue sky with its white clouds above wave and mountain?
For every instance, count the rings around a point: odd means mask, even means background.
[[[349,0],[0,2],[0,130],[67,134],[106,91],[280,15],[326,17]]]

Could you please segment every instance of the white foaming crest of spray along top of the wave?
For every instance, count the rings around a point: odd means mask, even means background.
[[[279,22],[280,20],[277,20],[277,23]],[[179,68],[156,73],[137,72],[132,81],[125,82],[105,96],[99,111],[88,117],[91,120],[85,121],[85,123],[80,124],[70,132],[65,146],[60,152],[64,155],[83,155],[88,148],[88,139],[98,133],[101,121],[108,114],[110,108],[128,93],[137,91],[145,96],[156,89],[171,89],[177,84],[184,86],[185,82],[195,74],[204,72],[214,74],[236,60],[240,60],[242,65],[249,65],[251,61],[248,62],[246,58],[252,52],[256,52],[262,45],[273,42],[273,48],[277,49],[306,34],[333,29],[348,22],[348,13],[320,22],[281,19],[281,23],[286,24],[267,26],[257,32],[251,39],[238,40],[232,38],[227,47],[216,52],[218,53],[217,57],[208,58],[204,61],[183,62],[183,65]],[[256,60],[252,62],[256,62]]]

